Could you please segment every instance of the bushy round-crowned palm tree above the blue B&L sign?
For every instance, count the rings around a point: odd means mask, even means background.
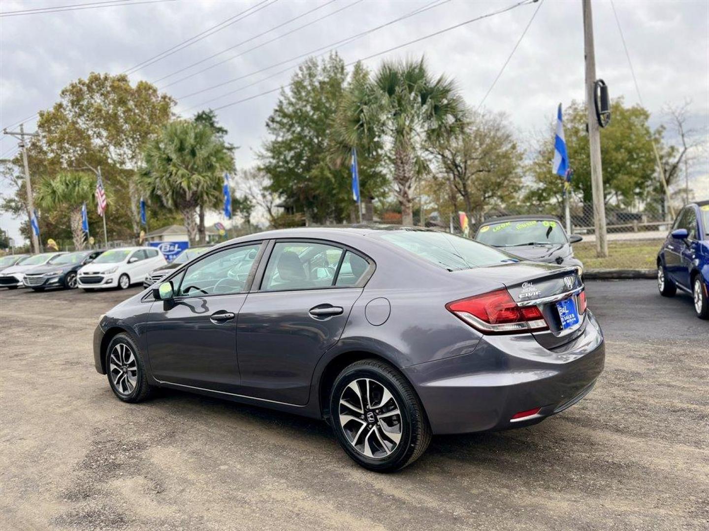
[[[213,207],[220,197],[225,171],[233,155],[211,127],[190,120],[165,125],[145,147],[143,190],[184,218],[190,244],[199,238],[200,208]]]

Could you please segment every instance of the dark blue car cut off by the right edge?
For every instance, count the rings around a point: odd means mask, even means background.
[[[657,254],[657,287],[664,297],[679,288],[692,295],[700,319],[709,319],[709,201],[687,205]]]

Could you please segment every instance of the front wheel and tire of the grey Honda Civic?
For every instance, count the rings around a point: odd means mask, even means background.
[[[119,333],[108,344],[106,376],[113,394],[124,402],[140,402],[150,396],[143,355],[127,333]]]

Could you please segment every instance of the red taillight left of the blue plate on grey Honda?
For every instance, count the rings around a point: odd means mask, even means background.
[[[449,302],[446,308],[481,332],[514,333],[547,329],[536,306],[518,306],[507,290]]]

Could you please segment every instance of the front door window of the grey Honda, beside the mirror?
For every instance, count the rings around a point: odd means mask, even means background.
[[[190,265],[176,290],[177,295],[201,297],[244,291],[260,247],[261,244],[250,244],[224,249]]]

